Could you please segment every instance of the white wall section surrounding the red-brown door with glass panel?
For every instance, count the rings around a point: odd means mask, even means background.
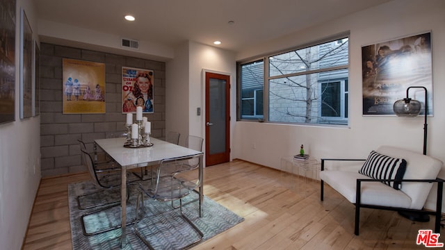
[[[236,117],[236,63],[231,51],[197,42],[186,42],[175,49],[175,59],[166,64],[166,131],[179,131],[179,144],[187,135],[205,138],[205,76],[204,71],[232,76],[231,130]],[[184,88],[187,88],[186,90]],[[201,115],[197,115],[201,108]],[[232,142],[232,138],[231,138]],[[203,148],[204,149],[204,148]]]

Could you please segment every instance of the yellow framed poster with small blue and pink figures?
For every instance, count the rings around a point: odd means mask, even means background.
[[[63,114],[105,113],[105,64],[63,58]]]

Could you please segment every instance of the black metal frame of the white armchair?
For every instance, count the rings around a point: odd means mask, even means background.
[[[346,160],[346,161],[353,161],[353,160],[363,160],[363,159],[335,159],[335,158],[323,158],[321,159],[321,171],[325,169],[325,160]],[[428,183],[437,183],[437,199],[436,199],[436,209],[435,211],[429,211],[429,210],[418,210],[418,209],[410,209],[410,208],[395,208],[395,207],[389,207],[389,206],[376,206],[376,205],[369,205],[369,204],[362,204],[361,198],[362,198],[362,182],[382,182],[382,181],[396,181],[394,179],[367,179],[367,178],[359,178],[357,179],[357,186],[356,186],[356,194],[355,194],[355,224],[354,224],[354,234],[359,235],[359,224],[360,224],[360,208],[373,208],[373,209],[380,209],[380,210],[392,210],[392,211],[405,211],[405,212],[415,212],[415,213],[421,213],[426,215],[435,215],[435,233],[440,233],[440,227],[441,227],[441,218],[442,218],[442,196],[443,196],[443,189],[444,189],[444,182],[442,178],[435,178],[435,179],[402,179],[402,182],[428,182]],[[324,181],[320,180],[320,200],[323,201],[323,195],[324,195]]]

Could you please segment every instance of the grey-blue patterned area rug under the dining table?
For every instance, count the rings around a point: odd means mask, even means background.
[[[95,185],[90,181],[68,185],[72,249],[121,249],[120,228],[91,236],[83,234],[81,216],[104,208],[104,206],[80,210],[76,197],[81,194],[90,194],[96,190],[97,188],[95,188]],[[135,218],[138,192],[136,185],[129,185],[128,190],[127,222],[133,221]],[[193,199],[197,197],[197,194],[192,193],[186,197],[184,203],[193,201]],[[118,201],[119,199],[120,191],[115,190],[106,193],[101,192],[97,197],[82,199],[81,203],[83,206],[88,206],[91,205],[90,203]],[[180,218],[179,210],[173,209],[171,202],[154,201],[145,197],[144,205],[144,210],[140,210],[139,214],[145,215],[144,220],[147,220],[147,225],[149,226],[144,226],[145,222],[141,220],[140,223],[138,223],[138,229],[143,233],[145,238],[149,239],[154,249],[177,249],[181,247],[182,244],[186,244],[184,242],[193,241],[194,238],[197,237],[197,235],[188,228],[188,224],[177,223],[179,221],[178,218]],[[232,228],[244,220],[242,217],[239,217],[216,201],[205,196],[202,203],[202,217],[199,217],[198,207],[199,203],[197,201],[191,202],[183,206],[183,212],[204,234],[202,242]],[[92,215],[84,217],[85,230],[87,233],[120,224],[120,206],[107,206],[106,208],[107,209],[102,212],[93,213]],[[165,211],[168,211],[168,213],[163,213]],[[126,234],[127,245],[124,249],[148,249],[133,232],[133,224],[127,226]]]

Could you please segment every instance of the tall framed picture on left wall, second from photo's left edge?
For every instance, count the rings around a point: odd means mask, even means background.
[[[33,115],[33,31],[20,9],[20,119]]]

